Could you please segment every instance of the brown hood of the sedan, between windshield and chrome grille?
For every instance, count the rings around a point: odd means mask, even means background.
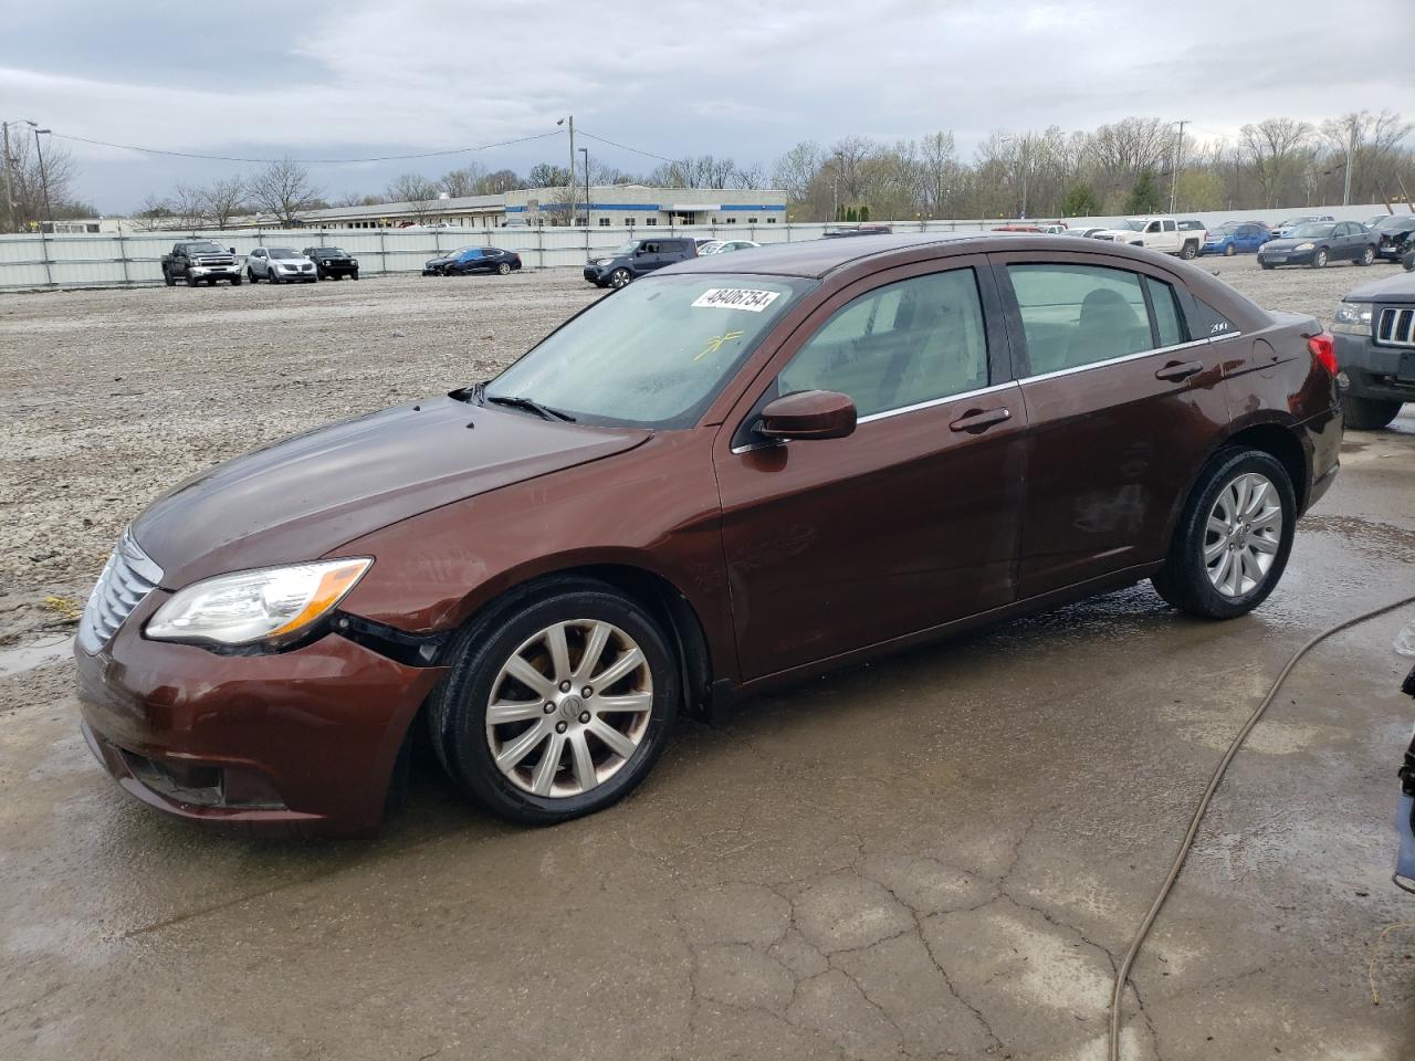
[[[651,434],[434,398],[236,457],[158,498],[132,530],[163,569],[163,586],[178,589],[316,559],[453,501],[623,453]]]

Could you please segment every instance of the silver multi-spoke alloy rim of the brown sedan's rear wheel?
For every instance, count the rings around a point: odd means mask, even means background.
[[[1228,598],[1258,589],[1282,546],[1282,501],[1272,481],[1247,471],[1218,491],[1204,529],[1208,581]]]

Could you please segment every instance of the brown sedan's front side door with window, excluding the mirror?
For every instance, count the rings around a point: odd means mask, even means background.
[[[1013,600],[1026,410],[998,308],[981,256],[862,280],[727,419],[715,461],[744,680]],[[797,390],[849,395],[855,433],[763,444],[756,410]]]

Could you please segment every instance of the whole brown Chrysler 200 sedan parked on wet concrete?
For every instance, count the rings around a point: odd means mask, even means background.
[[[829,666],[1142,579],[1242,615],[1340,439],[1315,320],[1150,252],[699,259],[157,501],[82,621],[83,733],[166,811],[358,832],[426,726],[485,808],[556,822],[679,713]]]

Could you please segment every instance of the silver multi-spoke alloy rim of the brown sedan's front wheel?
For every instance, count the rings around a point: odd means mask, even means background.
[[[654,679],[634,638],[601,620],[567,620],[501,665],[487,697],[487,744],[516,788],[563,799],[614,777],[652,712]]]

